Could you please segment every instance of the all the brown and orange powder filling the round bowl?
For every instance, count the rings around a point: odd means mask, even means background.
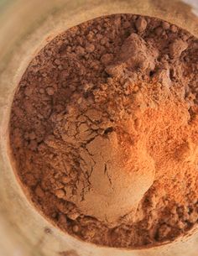
[[[31,61],[10,118],[16,172],[65,232],[156,246],[198,222],[198,40],[116,14],[58,35]]]

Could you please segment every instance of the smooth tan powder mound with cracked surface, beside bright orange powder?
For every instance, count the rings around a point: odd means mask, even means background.
[[[78,113],[76,108],[74,120]],[[116,126],[114,123],[113,128],[102,128],[102,123],[98,124],[99,133],[98,129],[92,131],[88,118],[86,123],[89,125],[80,124],[72,138],[72,144],[79,144],[77,157],[81,174],[75,195],[73,187],[67,187],[65,199],[75,203],[83,214],[117,225],[121,217],[129,212],[134,214],[143,194],[153,184],[154,161],[146,147],[135,142],[133,120]],[[69,126],[72,124],[69,121]],[[66,144],[69,141],[70,138],[65,138]],[[75,163],[70,168],[73,166]]]

